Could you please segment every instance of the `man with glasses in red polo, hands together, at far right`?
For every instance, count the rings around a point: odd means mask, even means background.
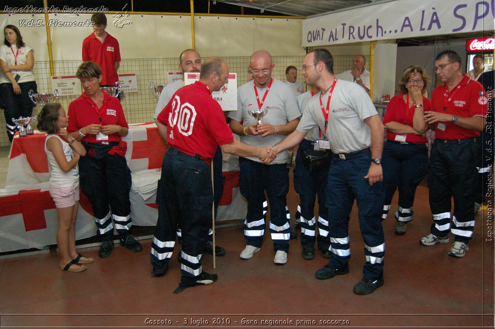
[[[455,51],[439,53],[434,71],[444,82],[432,93],[431,111],[425,111],[426,122],[435,129],[428,173],[434,223],[431,233],[419,242],[448,243],[451,231],[454,244],[448,254],[463,257],[473,236],[476,140],[485,128],[488,99],[480,83],[461,73],[461,58]]]

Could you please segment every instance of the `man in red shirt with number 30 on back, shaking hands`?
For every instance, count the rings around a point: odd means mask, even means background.
[[[219,91],[228,76],[229,66],[222,59],[208,58],[201,65],[199,81],[179,89],[155,121],[170,147],[163,157],[156,192],[158,221],[151,243],[151,274],[161,277],[167,271],[179,224],[182,281],[174,293],[193,285],[213,283],[218,278],[202,271],[201,263],[211,227],[210,164],[217,145],[226,153],[266,159],[266,164],[275,158],[270,147],[234,141],[222,108],[211,97],[211,92]]]

